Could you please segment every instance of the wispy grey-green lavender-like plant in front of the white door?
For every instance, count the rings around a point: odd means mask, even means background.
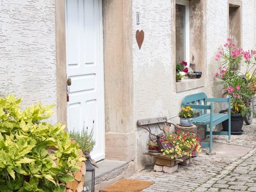
[[[87,154],[90,154],[93,147],[95,146],[95,140],[93,140],[93,129],[88,132],[88,127],[86,127],[86,130],[83,127],[83,130],[81,132],[73,130],[72,132],[70,132],[70,138],[76,140],[79,148]]]

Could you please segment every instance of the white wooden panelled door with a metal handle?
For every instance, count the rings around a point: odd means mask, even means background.
[[[93,129],[95,161],[104,159],[102,1],[66,0],[68,131]]]

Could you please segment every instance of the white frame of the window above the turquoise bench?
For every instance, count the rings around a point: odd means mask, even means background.
[[[185,61],[190,63],[189,52],[189,1],[188,0],[176,0],[175,4],[181,4],[185,6]]]

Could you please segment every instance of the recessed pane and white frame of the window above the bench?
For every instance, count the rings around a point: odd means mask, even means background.
[[[176,0],[176,63],[189,63],[189,1]]]

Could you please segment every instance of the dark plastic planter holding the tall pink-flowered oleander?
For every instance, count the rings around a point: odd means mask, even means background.
[[[227,113],[227,111],[220,111],[220,113]],[[231,134],[242,134],[243,122],[243,116],[241,116],[240,114],[231,113]],[[228,131],[228,120],[222,122],[222,127],[223,131]]]

